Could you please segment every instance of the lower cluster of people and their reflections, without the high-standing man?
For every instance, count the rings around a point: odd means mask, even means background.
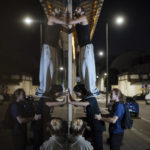
[[[69,90],[63,92],[59,85],[52,88],[51,98],[40,98],[33,107],[33,114],[26,116],[25,92],[17,89],[13,95],[10,112],[13,118],[13,143],[15,150],[25,150],[27,145],[27,123],[31,123],[33,133],[33,150],[103,150],[103,132],[106,131],[105,122],[109,123],[110,150],[119,150],[124,128],[121,120],[125,109],[122,102],[123,95],[119,89],[113,89],[111,100],[114,101],[110,117],[105,118],[101,114],[97,100],[88,92],[83,84],[77,84],[73,91],[81,100],[72,97]],[[64,95],[64,101],[56,98]],[[55,106],[72,104],[81,106],[85,110],[85,118],[77,118],[72,121],[70,135],[68,135],[67,121],[61,118],[53,118],[51,113]],[[36,107],[35,107],[36,106]],[[88,126],[88,128],[87,128]],[[90,134],[87,134],[90,132]],[[87,136],[88,135],[88,136]]]

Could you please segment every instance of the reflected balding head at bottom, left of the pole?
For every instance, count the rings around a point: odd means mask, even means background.
[[[54,118],[48,122],[48,128],[51,134],[59,136],[62,134],[63,121],[59,118]]]

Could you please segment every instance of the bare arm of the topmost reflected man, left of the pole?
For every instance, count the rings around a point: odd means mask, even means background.
[[[48,24],[48,25],[53,25],[53,24],[66,25],[66,20],[65,20],[65,19],[62,20],[62,19],[59,19],[59,18],[50,16],[50,17],[48,18],[47,24]]]

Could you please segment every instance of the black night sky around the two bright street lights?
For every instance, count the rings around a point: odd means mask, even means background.
[[[149,0],[105,0],[93,37],[96,62],[98,51],[105,50],[105,23],[109,23],[109,54],[118,56],[127,51],[150,51]],[[40,61],[39,24],[25,26],[22,19],[44,18],[38,0],[2,1],[0,5],[0,73],[38,70]],[[125,17],[122,26],[114,24],[115,16]]]

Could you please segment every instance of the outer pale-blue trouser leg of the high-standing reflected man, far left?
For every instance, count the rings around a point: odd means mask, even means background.
[[[50,59],[50,49],[49,45],[44,44],[41,53],[41,60],[40,60],[40,73],[39,73],[39,80],[40,80],[40,88],[39,91],[44,93],[46,91],[47,85],[47,71],[49,66],[49,59]]]

